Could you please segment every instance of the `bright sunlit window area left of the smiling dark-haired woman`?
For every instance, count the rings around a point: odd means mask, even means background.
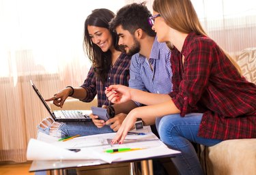
[[[0,76],[56,73],[74,59],[89,68],[85,18],[96,8],[116,12],[123,5],[121,0],[0,0]]]

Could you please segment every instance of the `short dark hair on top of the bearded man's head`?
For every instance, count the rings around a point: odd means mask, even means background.
[[[110,29],[115,31],[119,25],[122,25],[123,29],[129,31],[132,35],[137,29],[142,29],[147,35],[154,37],[156,33],[147,22],[147,18],[151,15],[150,10],[145,6],[145,2],[125,5],[118,10],[115,18],[111,20]]]

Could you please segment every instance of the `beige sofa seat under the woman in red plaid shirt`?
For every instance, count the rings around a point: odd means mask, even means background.
[[[226,140],[205,149],[208,175],[255,175],[256,139]]]

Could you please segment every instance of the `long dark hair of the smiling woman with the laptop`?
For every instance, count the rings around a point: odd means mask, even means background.
[[[114,17],[115,14],[111,12],[111,10],[100,8],[93,10],[85,20],[85,35],[83,39],[84,50],[87,53],[89,60],[92,63],[92,66],[94,67],[96,77],[99,78],[103,83],[106,81],[107,74],[111,67],[112,53],[110,50],[102,52],[100,47],[98,47],[91,41],[91,37],[89,36],[87,27],[88,25],[90,25],[109,29],[109,22]],[[112,35],[114,48],[120,51],[120,48],[118,46],[118,37],[116,33],[114,33],[113,31],[110,31],[110,33]]]

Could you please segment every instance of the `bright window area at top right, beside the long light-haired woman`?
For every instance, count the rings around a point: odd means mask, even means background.
[[[191,0],[202,22],[210,26],[210,30],[225,27],[248,27],[256,25],[255,0]],[[222,21],[221,21],[222,20]],[[225,20],[223,22],[223,20]],[[239,22],[233,20],[240,20]],[[249,20],[249,21],[248,21]],[[221,21],[221,22],[220,22]],[[208,24],[206,24],[206,22]]]

